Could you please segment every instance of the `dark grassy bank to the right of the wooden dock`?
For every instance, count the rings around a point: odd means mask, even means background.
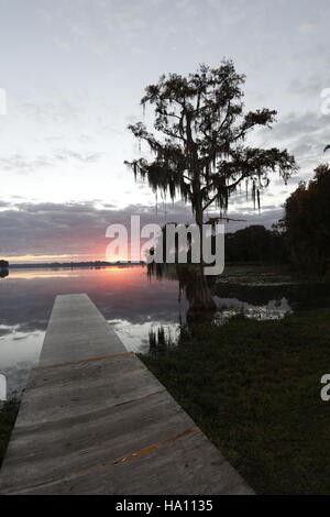
[[[256,493],[330,493],[329,309],[239,316],[141,359]]]

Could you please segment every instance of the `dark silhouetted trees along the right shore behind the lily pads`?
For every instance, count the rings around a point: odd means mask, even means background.
[[[284,218],[266,230],[254,226],[226,235],[227,262],[288,263],[324,275],[330,265],[330,166],[319,165],[287,198]]]

